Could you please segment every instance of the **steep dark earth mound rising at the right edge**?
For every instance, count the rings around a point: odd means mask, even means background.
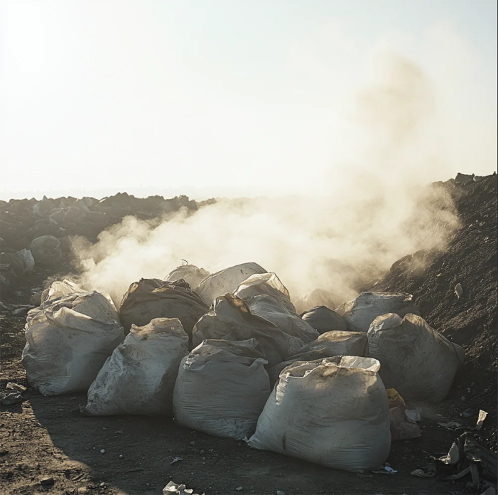
[[[464,347],[467,363],[449,397],[455,399],[450,408],[458,414],[466,409],[486,409],[490,417],[483,439],[495,449],[497,175],[479,181],[472,176],[459,178],[443,184],[455,201],[461,222],[447,250],[405,256],[374,284],[373,290],[412,294],[422,317]]]

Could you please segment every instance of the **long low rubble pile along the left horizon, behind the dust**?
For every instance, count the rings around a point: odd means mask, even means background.
[[[194,212],[202,204],[187,196],[136,198],[125,192],[103,199],[0,200],[0,294],[15,290],[19,277],[31,273],[35,264],[52,270],[67,266],[70,236],[94,242],[127,215],[150,220],[180,209]]]

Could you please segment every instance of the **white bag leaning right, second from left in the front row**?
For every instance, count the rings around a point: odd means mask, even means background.
[[[178,367],[187,354],[188,335],[177,318],[132,325],[90,385],[82,412],[172,416]]]

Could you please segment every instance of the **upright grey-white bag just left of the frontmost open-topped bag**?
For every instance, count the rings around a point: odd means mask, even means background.
[[[249,437],[270,393],[262,356],[253,338],[204,340],[181,362],[175,421],[218,437]]]

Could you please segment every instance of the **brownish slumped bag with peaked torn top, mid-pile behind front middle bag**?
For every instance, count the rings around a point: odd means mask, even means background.
[[[275,324],[253,315],[247,303],[226,294],[215,299],[209,313],[204,315],[192,331],[192,343],[205,339],[247,340],[255,338],[269,366],[293,354],[304,345],[302,339],[288,335]]]

